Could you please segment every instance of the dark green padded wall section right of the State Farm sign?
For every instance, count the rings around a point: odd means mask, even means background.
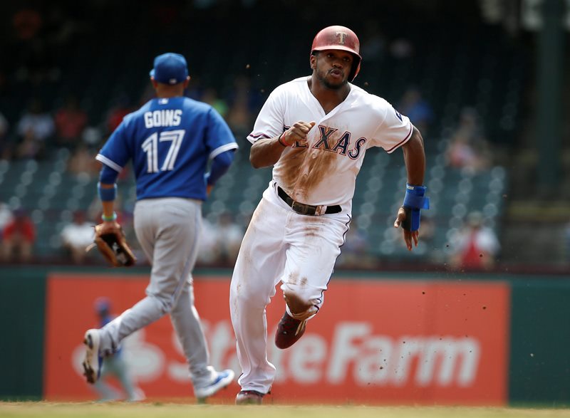
[[[513,280],[511,404],[570,404],[570,281]]]

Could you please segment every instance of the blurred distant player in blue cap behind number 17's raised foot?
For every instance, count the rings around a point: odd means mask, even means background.
[[[95,313],[98,316],[98,326],[100,328],[110,323],[110,321],[117,316],[111,315],[110,308],[111,303],[108,298],[100,297],[95,300]],[[118,380],[124,393],[118,392],[114,387],[108,384],[107,381],[109,377],[115,377],[115,379]],[[98,392],[100,402],[120,399],[136,402],[145,399],[145,392],[142,392],[130,375],[128,363],[125,361],[123,348],[121,346],[118,347],[113,355],[105,357],[100,378],[95,382],[93,387]]]

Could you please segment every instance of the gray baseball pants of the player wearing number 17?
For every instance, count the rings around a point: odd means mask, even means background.
[[[125,310],[100,332],[100,353],[112,352],[123,338],[170,314],[190,365],[195,387],[209,385],[214,369],[194,306],[192,268],[202,227],[202,202],[168,197],[135,205],[135,233],[152,263],[146,298]]]

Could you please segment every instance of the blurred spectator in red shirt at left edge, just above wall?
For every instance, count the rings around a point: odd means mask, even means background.
[[[16,209],[14,219],[6,224],[2,234],[2,259],[30,261],[35,241],[36,226],[24,209]]]

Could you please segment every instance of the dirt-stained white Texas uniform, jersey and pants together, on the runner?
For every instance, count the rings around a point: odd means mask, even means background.
[[[266,355],[265,306],[276,284],[281,281],[281,290],[311,306],[304,318],[317,313],[348,231],[356,175],[366,150],[382,147],[390,153],[412,136],[408,117],[356,85],[351,84],[346,99],[326,114],[308,80],[297,78],[276,88],[247,137],[253,143],[276,137],[295,122],[316,122],[306,143],[286,148],[274,165],[234,268],[230,312],[242,390],[267,393],[274,381],[275,367]],[[316,215],[294,211],[279,196],[279,188],[296,202],[316,206]],[[327,208],[336,205],[340,211],[327,214]]]

